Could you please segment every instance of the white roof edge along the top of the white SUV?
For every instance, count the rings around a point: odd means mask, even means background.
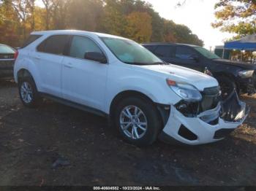
[[[111,34],[103,34],[97,32],[90,32],[90,31],[77,31],[77,30],[57,30],[57,31],[34,31],[31,34],[38,34],[38,35],[45,35],[45,34],[87,34],[87,35],[97,35],[99,37],[114,37],[125,39],[121,36],[114,36]]]

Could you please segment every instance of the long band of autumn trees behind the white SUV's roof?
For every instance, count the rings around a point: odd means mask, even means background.
[[[41,1],[43,7],[37,7]],[[187,26],[165,20],[142,0],[0,0],[0,42],[19,46],[31,31],[78,29],[137,42],[203,45]]]

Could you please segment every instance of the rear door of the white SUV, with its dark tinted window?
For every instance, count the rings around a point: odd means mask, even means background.
[[[39,72],[44,93],[61,98],[61,69],[69,42],[68,35],[53,35],[45,39],[31,54]]]

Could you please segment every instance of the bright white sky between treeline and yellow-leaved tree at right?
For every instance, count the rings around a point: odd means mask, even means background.
[[[187,0],[182,7],[176,7],[176,4],[182,0],[146,1],[153,5],[161,17],[188,26],[193,34],[203,40],[208,50],[224,44],[224,39],[233,36],[211,27],[211,23],[215,20],[214,4],[218,0]]]

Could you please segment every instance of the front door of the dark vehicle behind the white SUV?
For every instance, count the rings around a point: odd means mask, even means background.
[[[189,69],[203,71],[200,55],[192,47],[182,45],[176,46],[173,63]]]

